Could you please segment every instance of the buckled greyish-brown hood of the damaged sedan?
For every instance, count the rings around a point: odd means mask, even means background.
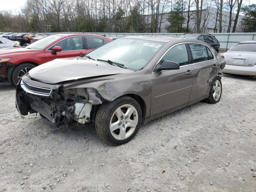
[[[132,70],[88,58],[73,57],[55,59],[29,71],[31,78],[40,82],[56,84],[64,81],[130,73]]]

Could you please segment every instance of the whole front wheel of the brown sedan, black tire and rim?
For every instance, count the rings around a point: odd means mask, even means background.
[[[136,135],[141,120],[142,111],[138,102],[134,98],[122,96],[100,106],[95,118],[95,128],[98,136],[107,144],[121,145]]]

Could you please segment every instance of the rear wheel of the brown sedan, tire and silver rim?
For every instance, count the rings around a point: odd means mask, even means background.
[[[216,88],[217,86],[217,88]],[[216,76],[212,80],[211,88],[210,88],[210,95],[209,97],[205,100],[205,102],[210,103],[210,104],[215,104],[220,101],[222,95],[222,83],[221,79],[219,76]]]

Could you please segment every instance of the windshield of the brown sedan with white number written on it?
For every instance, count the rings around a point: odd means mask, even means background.
[[[94,60],[110,60],[136,71],[146,66],[164,44],[149,40],[120,38],[100,46],[86,56]]]

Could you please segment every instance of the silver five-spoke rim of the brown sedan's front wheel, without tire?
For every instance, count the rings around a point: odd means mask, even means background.
[[[118,107],[110,119],[110,133],[116,140],[130,137],[138,124],[138,111],[131,104]]]

